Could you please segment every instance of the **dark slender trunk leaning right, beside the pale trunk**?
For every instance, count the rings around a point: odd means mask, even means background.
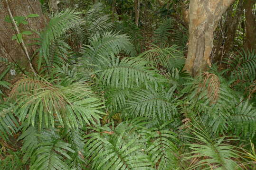
[[[229,7],[228,17],[226,18],[225,28],[223,35],[221,34],[218,45],[216,47],[216,53],[214,61],[223,61],[228,57],[230,51],[234,46],[234,40],[236,37],[237,27],[239,26],[244,8],[244,0],[239,0],[237,5],[236,14],[234,15],[233,7]],[[224,42],[223,42],[224,39]]]

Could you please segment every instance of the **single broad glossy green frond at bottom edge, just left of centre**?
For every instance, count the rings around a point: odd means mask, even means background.
[[[86,143],[86,157],[93,161],[91,170],[153,170],[150,157],[143,153],[143,145],[137,142],[141,137],[133,135],[133,131],[141,128],[130,124],[132,122],[127,126],[127,123],[123,122],[116,131],[102,130],[85,136],[90,138]]]

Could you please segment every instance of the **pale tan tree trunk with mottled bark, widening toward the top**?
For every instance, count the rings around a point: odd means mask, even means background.
[[[189,50],[184,69],[192,76],[206,70],[213,33],[222,14],[235,0],[190,0]]]

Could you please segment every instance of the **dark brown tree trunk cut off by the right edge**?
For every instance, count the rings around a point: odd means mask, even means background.
[[[252,51],[256,49],[256,16],[253,13],[253,7],[256,0],[247,0],[246,9],[246,41],[245,48]]]

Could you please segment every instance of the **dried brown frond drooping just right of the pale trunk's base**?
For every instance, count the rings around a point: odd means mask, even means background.
[[[216,103],[220,91],[219,78],[215,74],[209,72],[204,72],[203,76],[203,87],[207,87],[208,97],[211,100],[211,103]]]

